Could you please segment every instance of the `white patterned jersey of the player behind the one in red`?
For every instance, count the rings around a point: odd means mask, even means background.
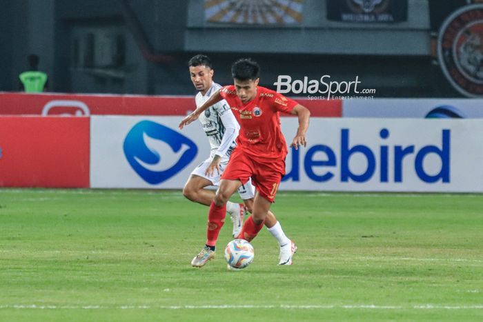
[[[205,95],[199,92],[195,97],[197,108],[203,105],[219,88],[221,85],[213,83]],[[210,141],[210,158],[217,154],[221,157],[221,162],[227,162],[236,146],[235,139],[240,128],[228,103],[222,99],[207,108],[198,119]]]

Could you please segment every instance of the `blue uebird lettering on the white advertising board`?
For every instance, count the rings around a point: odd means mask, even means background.
[[[451,165],[451,130],[442,130],[441,147],[436,145],[426,145],[416,150],[415,145],[386,145],[384,140],[390,136],[389,130],[383,128],[379,133],[382,144],[379,151],[371,150],[367,145],[350,143],[350,130],[344,128],[341,130],[340,136],[340,151],[337,152],[327,145],[314,145],[305,154],[303,163],[307,177],[316,182],[326,182],[335,177],[334,171],[331,168],[340,168],[340,182],[357,182],[363,183],[374,176],[377,176],[377,181],[381,183],[393,181],[395,183],[402,183],[404,179],[403,163],[405,159],[411,159],[413,169],[417,177],[425,183],[435,183],[440,181],[442,183],[450,182],[450,165]],[[315,157],[316,153],[323,153],[326,155],[324,161],[320,161]],[[361,173],[354,173],[351,170],[351,158],[359,154],[360,157],[366,160],[366,168]],[[440,160],[441,168],[437,173],[429,174],[424,168],[424,160],[429,156]],[[292,169],[282,179],[282,181],[300,180],[300,165],[299,165],[299,150],[292,150]],[[409,160],[407,160],[409,161]],[[392,165],[390,167],[390,165]],[[324,174],[317,174],[316,169],[326,168]],[[390,173],[390,169],[393,169]],[[379,170],[377,173],[376,170]]]

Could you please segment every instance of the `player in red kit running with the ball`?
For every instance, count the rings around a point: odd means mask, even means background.
[[[237,238],[252,241],[263,228],[270,205],[285,174],[287,143],[280,130],[279,112],[297,115],[299,126],[290,147],[306,146],[306,132],[310,112],[292,99],[268,88],[258,86],[260,68],[255,61],[240,59],[233,63],[234,85],[217,90],[206,103],[179,123],[182,129],[199,117],[211,105],[225,99],[240,125],[237,147],[221,175],[219,189],[208,212],[206,245],[215,247],[219,230],[226,216],[226,202],[230,196],[252,179],[257,188],[253,212],[245,221]],[[213,171],[215,169],[212,169]],[[293,241],[281,247],[279,265],[291,265],[297,246]]]

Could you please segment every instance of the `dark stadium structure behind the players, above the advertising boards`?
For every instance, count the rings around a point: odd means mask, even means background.
[[[442,21],[471,2],[398,0],[404,21],[348,23],[328,20],[326,1],[305,0],[300,23],[259,26],[207,22],[199,0],[3,0],[0,90],[19,90],[18,74],[35,53],[52,92],[191,95],[186,61],[203,52],[219,83],[230,82],[230,63],[244,56],[259,61],[271,88],[278,74],[358,75],[380,98],[462,97],[434,43]],[[99,50],[110,59],[97,61]]]

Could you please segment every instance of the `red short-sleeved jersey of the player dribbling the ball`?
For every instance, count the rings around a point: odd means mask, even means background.
[[[290,113],[298,103],[282,94],[261,86],[257,87],[254,99],[242,103],[235,85],[228,85],[219,91],[226,99],[240,124],[237,145],[253,157],[284,159],[287,143],[280,130],[279,112]],[[237,148],[238,148],[237,147]]]

